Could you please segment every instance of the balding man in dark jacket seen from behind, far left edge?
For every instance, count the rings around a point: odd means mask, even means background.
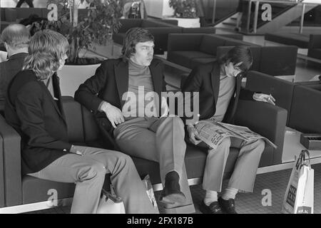
[[[4,110],[6,88],[12,78],[21,71],[24,58],[28,55],[29,31],[21,24],[11,24],[1,33],[8,60],[0,63],[0,110]]]

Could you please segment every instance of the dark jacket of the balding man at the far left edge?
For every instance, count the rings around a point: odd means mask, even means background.
[[[17,53],[10,56],[7,61],[0,63],[0,110],[4,110],[6,100],[6,88],[12,78],[21,71],[24,65],[24,58],[28,53]]]

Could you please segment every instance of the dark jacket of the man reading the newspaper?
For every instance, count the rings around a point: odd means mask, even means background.
[[[223,119],[225,123],[233,123],[239,98],[245,100],[253,99],[254,92],[241,88],[241,82],[242,76],[239,75],[236,77],[235,94],[230,100],[228,110]],[[216,61],[194,68],[182,87],[182,92],[199,92],[200,120],[211,118],[215,114],[219,90],[220,64]]]

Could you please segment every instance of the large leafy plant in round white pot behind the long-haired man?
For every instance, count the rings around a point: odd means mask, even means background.
[[[89,9],[78,9],[81,1],[91,4]],[[82,3],[82,2],[81,2]],[[35,30],[51,29],[66,36],[70,45],[68,60],[58,76],[62,95],[75,93],[78,86],[95,73],[103,58],[88,58],[87,50],[105,46],[112,40],[121,23],[122,10],[118,0],[48,0],[49,17],[56,20],[41,21]],[[51,8],[53,7],[53,8]],[[56,16],[53,16],[56,13]]]

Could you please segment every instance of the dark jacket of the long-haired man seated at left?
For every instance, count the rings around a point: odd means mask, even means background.
[[[21,71],[9,83],[4,113],[21,135],[24,174],[44,169],[71,148],[56,74],[52,79],[56,101],[33,71]]]

